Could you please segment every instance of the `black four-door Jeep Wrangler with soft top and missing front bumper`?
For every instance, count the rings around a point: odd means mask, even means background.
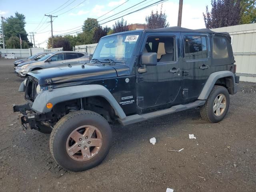
[[[51,133],[60,166],[98,165],[111,146],[109,123],[128,125],[200,107],[221,121],[239,76],[228,33],[180,27],[135,30],[100,39],[90,63],[28,73],[26,104],[13,105],[27,128]]]

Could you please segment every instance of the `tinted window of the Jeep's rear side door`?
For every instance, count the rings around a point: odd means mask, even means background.
[[[207,58],[207,43],[205,36],[185,36],[185,59]]]

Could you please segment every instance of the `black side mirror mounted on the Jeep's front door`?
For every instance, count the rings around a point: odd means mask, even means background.
[[[143,67],[138,68],[139,73],[147,72],[147,66],[156,66],[157,64],[157,54],[154,53],[144,53],[141,56],[141,65]]]

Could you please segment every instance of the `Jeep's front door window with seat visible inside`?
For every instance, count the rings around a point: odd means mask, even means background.
[[[156,52],[158,62],[172,62],[175,57],[174,37],[148,37],[143,53]]]

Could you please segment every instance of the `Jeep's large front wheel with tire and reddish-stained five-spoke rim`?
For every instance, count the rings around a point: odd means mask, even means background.
[[[100,164],[108,154],[111,142],[112,130],[106,119],[92,111],[76,111],[61,118],[54,126],[50,151],[60,166],[77,172]],[[79,145],[81,150],[74,153]]]

